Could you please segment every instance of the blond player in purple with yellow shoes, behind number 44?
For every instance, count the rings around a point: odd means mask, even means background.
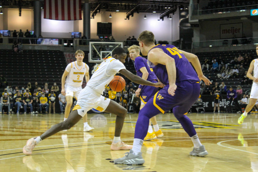
[[[129,56],[134,60],[134,68],[136,70],[136,75],[142,77],[147,81],[156,83],[158,79],[151,68],[148,67],[147,59],[140,56],[140,47],[137,45],[132,45],[128,48]],[[140,96],[141,106],[140,110],[144,107],[147,101],[155,95],[159,90],[156,87],[151,87],[147,85],[139,85],[138,89],[135,91],[137,97]],[[153,124],[154,131],[152,129],[151,123]],[[144,140],[151,140],[164,136],[163,132],[159,129],[159,125],[156,120],[156,116],[150,118],[149,128]]]

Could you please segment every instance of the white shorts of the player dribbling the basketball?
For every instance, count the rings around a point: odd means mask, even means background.
[[[77,110],[78,114],[82,117],[92,108],[103,112],[106,110],[107,106],[110,103],[110,99],[106,98],[95,91],[90,87],[85,87],[79,94],[77,103],[73,110]]]

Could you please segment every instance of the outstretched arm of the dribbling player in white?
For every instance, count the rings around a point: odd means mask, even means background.
[[[121,69],[119,71],[119,73],[121,73],[122,75],[124,75],[125,77],[127,77],[128,79],[130,79],[132,82],[135,82],[137,84],[141,84],[141,85],[149,85],[149,86],[153,86],[153,87],[164,87],[164,84],[161,82],[158,83],[152,83],[150,81],[146,81],[144,79],[142,79],[141,77],[138,77],[137,75],[132,74],[130,71],[128,71],[127,69]]]

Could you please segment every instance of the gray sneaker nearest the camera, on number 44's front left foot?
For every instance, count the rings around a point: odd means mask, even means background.
[[[125,153],[126,155],[124,157],[115,159],[114,164],[141,165],[145,162],[141,152],[139,152],[138,155],[132,153],[133,151],[131,149],[130,152]]]

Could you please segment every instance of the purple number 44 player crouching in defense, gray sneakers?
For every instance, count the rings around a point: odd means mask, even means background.
[[[211,84],[202,73],[198,57],[172,45],[155,46],[154,35],[150,31],[143,31],[138,41],[142,55],[148,55],[148,65],[153,68],[155,75],[165,84],[165,87],[149,99],[140,110],[135,126],[133,148],[125,157],[114,160],[114,163],[143,164],[141,147],[148,130],[148,120],[171,108],[193,142],[193,151],[190,155],[199,157],[208,155],[196,134],[193,123],[185,115],[200,95],[199,81],[202,79],[206,85]],[[197,74],[189,62],[192,63]]]

